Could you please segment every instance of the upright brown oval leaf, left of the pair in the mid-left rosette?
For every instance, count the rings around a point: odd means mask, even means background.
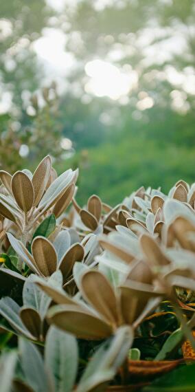
[[[57,254],[54,246],[44,237],[36,237],[32,241],[32,255],[38,270],[44,276],[50,276],[56,271]]]

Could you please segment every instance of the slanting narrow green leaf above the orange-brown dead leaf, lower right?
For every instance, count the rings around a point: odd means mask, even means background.
[[[176,329],[176,331],[174,331],[165,341],[155,360],[164,360],[165,358],[169,358],[172,351],[174,351],[180,345],[182,339],[183,331],[181,331],[181,328]]]

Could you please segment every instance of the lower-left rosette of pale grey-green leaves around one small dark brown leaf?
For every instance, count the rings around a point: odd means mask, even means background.
[[[55,272],[49,277],[51,287],[62,287],[62,274]],[[6,296],[0,300],[0,314],[8,324],[1,327],[30,340],[43,342],[47,333],[47,309],[51,298],[34,283],[30,275],[23,286],[23,306],[20,307],[12,298]]]

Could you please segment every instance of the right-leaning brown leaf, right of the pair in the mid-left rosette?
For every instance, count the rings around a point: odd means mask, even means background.
[[[84,258],[84,248],[80,243],[73,243],[71,248],[60,260],[58,268],[62,271],[63,278],[66,279],[72,272],[73,265],[76,261],[82,261]]]

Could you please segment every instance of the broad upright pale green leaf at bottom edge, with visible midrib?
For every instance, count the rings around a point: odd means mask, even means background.
[[[78,368],[76,338],[50,327],[45,342],[45,364],[54,375],[56,392],[71,392]]]

